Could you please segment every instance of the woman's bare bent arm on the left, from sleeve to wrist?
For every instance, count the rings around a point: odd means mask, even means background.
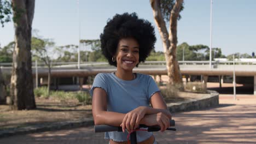
[[[120,126],[125,114],[107,111],[107,94],[102,88],[94,88],[92,95],[92,116],[94,124]]]

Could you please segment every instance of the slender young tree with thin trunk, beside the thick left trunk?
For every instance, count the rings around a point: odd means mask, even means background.
[[[47,93],[50,95],[50,85],[51,85],[51,54],[53,53],[54,42],[50,39],[40,39],[32,37],[31,49],[33,56],[40,61],[43,61],[48,67],[48,83],[47,83]]]

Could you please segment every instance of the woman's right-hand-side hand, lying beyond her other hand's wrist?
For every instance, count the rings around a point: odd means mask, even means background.
[[[163,132],[170,127],[170,118],[164,113],[159,112],[152,115],[146,115],[143,119],[143,124],[148,126],[159,125],[161,127],[161,132]]]

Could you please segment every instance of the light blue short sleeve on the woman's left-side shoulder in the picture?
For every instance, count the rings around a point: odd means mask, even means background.
[[[94,93],[94,88],[96,88],[96,87],[99,87],[99,88],[102,88],[102,89],[104,89],[104,91],[107,93],[108,91],[107,91],[107,87],[108,87],[108,85],[107,85],[107,77],[106,76],[104,76],[104,74],[102,74],[102,73],[100,73],[100,74],[97,74],[96,76],[95,76],[95,78],[94,78],[94,83],[92,83],[92,87],[91,87],[91,89],[90,89],[90,94],[91,94],[91,97],[92,97],[92,95],[93,95],[93,93]]]

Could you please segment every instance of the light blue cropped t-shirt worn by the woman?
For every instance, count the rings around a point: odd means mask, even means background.
[[[107,111],[128,113],[138,106],[149,106],[150,97],[159,92],[153,78],[149,75],[138,74],[134,80],[125,81],[119,79],[114,73],[97,74],[94,83],[90,89],[90,94],[93,95],[95,87],[104,89],[107,93]],[[114,141],[126,141],[127,131],[125,133],[111,131],[105,133],[105,139]],[[152,136],[152,133],[147,131],[137,131],[137,141],[141,142]]]

